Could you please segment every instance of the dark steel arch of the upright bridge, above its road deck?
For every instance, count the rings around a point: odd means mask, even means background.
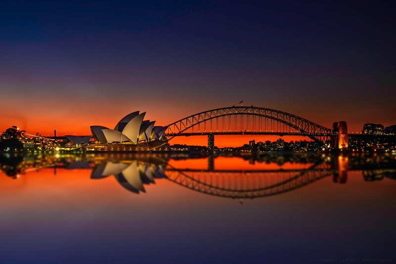
[[[225,121],[224,117],[226,116],[241,116],[241,121],[242,124],[240,125],[241,130],[230,130],[230,127],[232,125],[232,122],[235,122],[234,127],[236,128],[237,125],[237,118],[235,118],[234,121],[231,121],[231,118],[228,120],[228,131],[225,131]],[[244,117],[247,119],[247,124],[246,124],[246,129],[244,127]],[[252,121],[249,120],[252,117]],[[258,121],[256,120],[255,117],[258,117]],[[220,123],[222,123],[222,131],[220,130],[219,132],[219,119]],[[283,130],[283,131],[262,131],[261,128],[263,127],[263,122],[266,122],[265,119],[273,120],[274,122],[279,122],[278,123],[278,128],[279,124],[284,124],[289,127],[286,128],[288,130]],[[213,129],[214,126],[212,126],[212,121],[216,120],[216,129]],[[210,124],[206,124],[206,122],[209,122]],[[257,124],[258,123],[258,124]],[[204,130],[200,130],[200,125],[203,124]],[[198,127],[198,132],[194,132],[194,128]],[[206,127],[209,127],[209,131],[206,129]],[[256,128],[258,128],[256,130]],[[266,127],[267,128],[267,127]],[[294,129],[295,131],[292,132],[291,129]],[[250,130],[249,130],[250,129]],[[192,131],[192,132],[191,132]],[[181,136],[181,135],[197,135],[197,134],[241,134],[241,133],[249,133],[249,134],[296,134],[296,135],[304,135],[308,136],[309,138],[315,140],[315,141],[321,141],[324,142],[327,139],[329,139],[331,136],[335,136],[336,134],[332,132],[331,129],[325,128],[323,126],[320,126],[316,123],[313,123],[309,120],[306,120],[302,117],[275,110],[275,109],[270,109],[270,108],[263,108],[263,107],[254,107],[254,106],[232,106],[232,107],[223,107],[223,108],[217,108],[217,109],[212,109],[204,112],[200,112],[198,114],[194,114],[188,117],[185,117],[183,119],[180,119],[172,124],[169,124],[167,126],[167,129],[165,131],[165,136],[168,137],[168,139],[172,139],[175,136]]]

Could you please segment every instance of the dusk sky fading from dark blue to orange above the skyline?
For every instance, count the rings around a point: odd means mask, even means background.
[[[394,125],[394,13],[392,1],[2,1],[0,130],[90,134],[137,110],[167,125],[241,100],[350,132]]]

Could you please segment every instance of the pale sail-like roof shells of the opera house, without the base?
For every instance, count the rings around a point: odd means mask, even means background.
[[[154,126],[155,121],[143,120],[145,115],[146,112],[140,114],[139,111],[130,113],[122,118],[114,129],[91,126],[92,135],[101,144],[164,141],[166,127]]]

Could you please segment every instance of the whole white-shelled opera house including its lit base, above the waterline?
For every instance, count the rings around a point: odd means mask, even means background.
[[[130,113],[114,129],[91,126],[96,143],[87,151],[147,151],[167,150],[166,127],[154,126],[155,121],[143,120],[146,112]]]

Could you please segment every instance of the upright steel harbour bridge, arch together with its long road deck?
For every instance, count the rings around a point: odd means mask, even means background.
[[[335,145],[347,129],[325,128],[302,117],[263,107],[232,106],[190,115],[167,126],[165,136],[208,135],[300,135],[323,144]],[[345,124],[346,127],[346,124]],[[339,136],[340,135],[340,136]]]

